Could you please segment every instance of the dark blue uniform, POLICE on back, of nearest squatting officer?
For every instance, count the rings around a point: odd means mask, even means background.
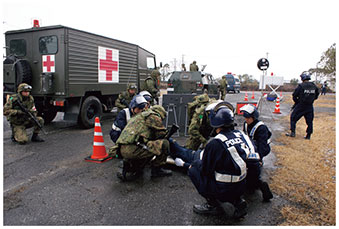
[[[239,130],[220,132],[201,152],[201,160],[188,171],[198,192],[206,197],[228,201],[245,190],[246,163],[255,147]]]

